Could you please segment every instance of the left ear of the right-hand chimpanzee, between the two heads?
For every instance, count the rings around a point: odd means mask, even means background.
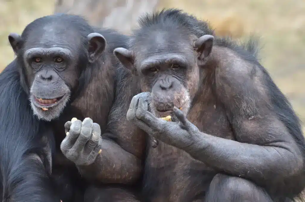
[[[126,69],[132,73],[134,72],[135,59],[132,51],[124,48],[116,48],[114,49],[113,53]]]

